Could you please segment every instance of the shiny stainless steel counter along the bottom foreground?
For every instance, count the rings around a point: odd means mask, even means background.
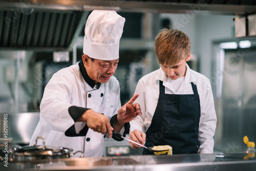
[[[0,170],[255,170],[256,158],[244,153],[173,156],[68,158],[44,162],[0,163]]]

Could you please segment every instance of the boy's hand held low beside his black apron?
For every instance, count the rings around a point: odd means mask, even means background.
[[[131,134],[130,134],[130,140],[133,140],[133,141],[135,141],[135,142],[138,142],[138,143],[140,143],[140,144],[142,144],[142,145],[144,145],[144,143],[145,143],[145,140],[146,139],[146,134],[145,133],[143,133],[143,132],[141,132],[141,131],[139,131],[139,130],[134,130]],[[132,148],[138,148],[138,147],[141,147],[141,146],[139,146],[139,145],[137,145],[137,144],[135,144],[135,143],[132,143],[132,142],[130,142],[129,141],[129,144],[131,145],[131,147]]]

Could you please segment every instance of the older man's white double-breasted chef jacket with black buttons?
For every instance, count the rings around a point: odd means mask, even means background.
[[[88,127],[84,133],[82,130],[86,128],[86,122],[75,121],[86,111],[85,108],[109,118],[117,114],[121,108],[119,82],[112,76],[107,83],[98,84],[99,89],[96,89],[91,87],[94,81],[87,77],[89,83],[84,80],[78,63],[52,76],[41,100],[40,120],[30,145],[34,145],[35,139],[41,136],[45,138],[46,145],[82,151],[84,157],[102,157],[104,135]],[[42,142],[38,145],[42,145]]]

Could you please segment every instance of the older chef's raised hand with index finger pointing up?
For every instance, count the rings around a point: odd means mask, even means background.
[[[139,94],[134,95],[126,104],[122,106],[117,112],[117,119],[121,123],[126,123],[132,121],[136,116],[140,116],[141,108],[139,103],[134,103],[134,101],[139,97]]]

